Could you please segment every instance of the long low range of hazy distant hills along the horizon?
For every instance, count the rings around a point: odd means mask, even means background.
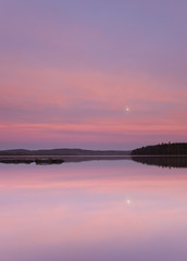
[[[124,150],[84,150],[84,149],[52,149],[52,150],[1,150],[0,156],[129,156]]]

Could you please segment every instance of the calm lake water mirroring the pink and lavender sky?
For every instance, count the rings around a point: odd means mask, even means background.
[[[187,169],[0,164],[0,260],[186,261]]]

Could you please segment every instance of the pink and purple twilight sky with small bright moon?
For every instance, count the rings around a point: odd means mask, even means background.
[[[186,0],[0,0],[0,149],[187,141]]]

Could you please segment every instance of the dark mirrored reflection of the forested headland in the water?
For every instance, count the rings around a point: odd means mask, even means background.
[[[162,167],[187,167],[187,157],[138,157],[132,159],[148,165],[158,165]]]

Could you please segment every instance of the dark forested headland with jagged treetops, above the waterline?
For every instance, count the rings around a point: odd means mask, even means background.
[[[187,144],[161,144],[132,151],[132,156],[183,156],[187,154]]]

